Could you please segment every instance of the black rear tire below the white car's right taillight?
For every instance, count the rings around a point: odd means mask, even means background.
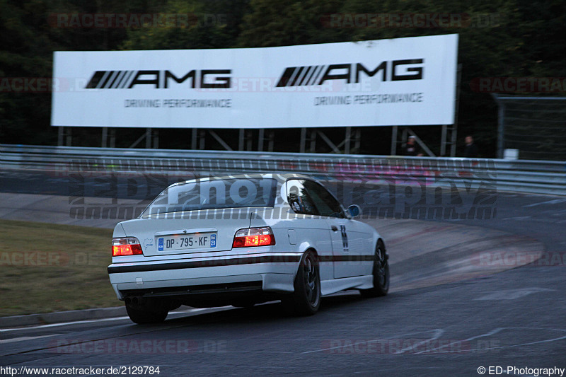
[[[294,288],[294,293],[282,299],[287,312],[293,315],[316,313],[320,308],[320,269],[312,250],[307,250],[301,258]]]

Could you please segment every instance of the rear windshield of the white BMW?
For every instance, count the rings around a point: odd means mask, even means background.
[[[277,180],[231,178],[189,182],[168,187],[141,214],[142,217],[197,209],[273,207]]]

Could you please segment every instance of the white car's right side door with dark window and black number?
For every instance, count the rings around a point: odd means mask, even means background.
[[[304,186],[330,229],[334,278],[367,274],[368,256],[373,256],[369,247],[371,235],[357,221],[349,219],[340,202],[323,185],[306,180]]]

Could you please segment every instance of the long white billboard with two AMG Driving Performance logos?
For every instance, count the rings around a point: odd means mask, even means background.
[[[458,35],[220,50],[54,52],[52,125],[454,123]]]

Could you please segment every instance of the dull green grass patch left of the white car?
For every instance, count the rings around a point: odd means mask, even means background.
[[[0,316],[120,306],[112,231],[0,220]]]

